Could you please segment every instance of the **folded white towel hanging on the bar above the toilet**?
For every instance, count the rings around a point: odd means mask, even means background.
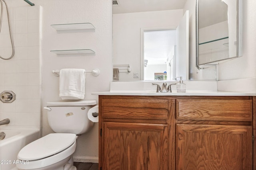
[[[65,68],[60,70],[60,97],[62,100],[84,99],[85,70]]]

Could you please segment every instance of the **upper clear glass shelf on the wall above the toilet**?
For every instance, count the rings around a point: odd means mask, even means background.
[[[95,27],[91,23],[67,23],[51,25],[57,33],[79,33],[95,32]]]

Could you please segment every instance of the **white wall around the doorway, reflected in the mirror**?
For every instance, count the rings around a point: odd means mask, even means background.
[[[113,14],[114,64],[130,64],[132,72],[122,72],[119,80],[138,80],[140,75],[141,29],[176,28],[182,18],[182,10]],[[140,78],[139,78],[140,79]]]

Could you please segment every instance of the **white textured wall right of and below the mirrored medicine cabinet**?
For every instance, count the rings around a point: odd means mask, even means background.
[[[256,1],[243,0],[242,57],[219,65],[219,80],[256,77]]]

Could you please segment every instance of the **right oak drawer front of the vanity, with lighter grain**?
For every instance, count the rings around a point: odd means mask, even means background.
[[[252,121],[252,100],[176,100],[178,120]]]

